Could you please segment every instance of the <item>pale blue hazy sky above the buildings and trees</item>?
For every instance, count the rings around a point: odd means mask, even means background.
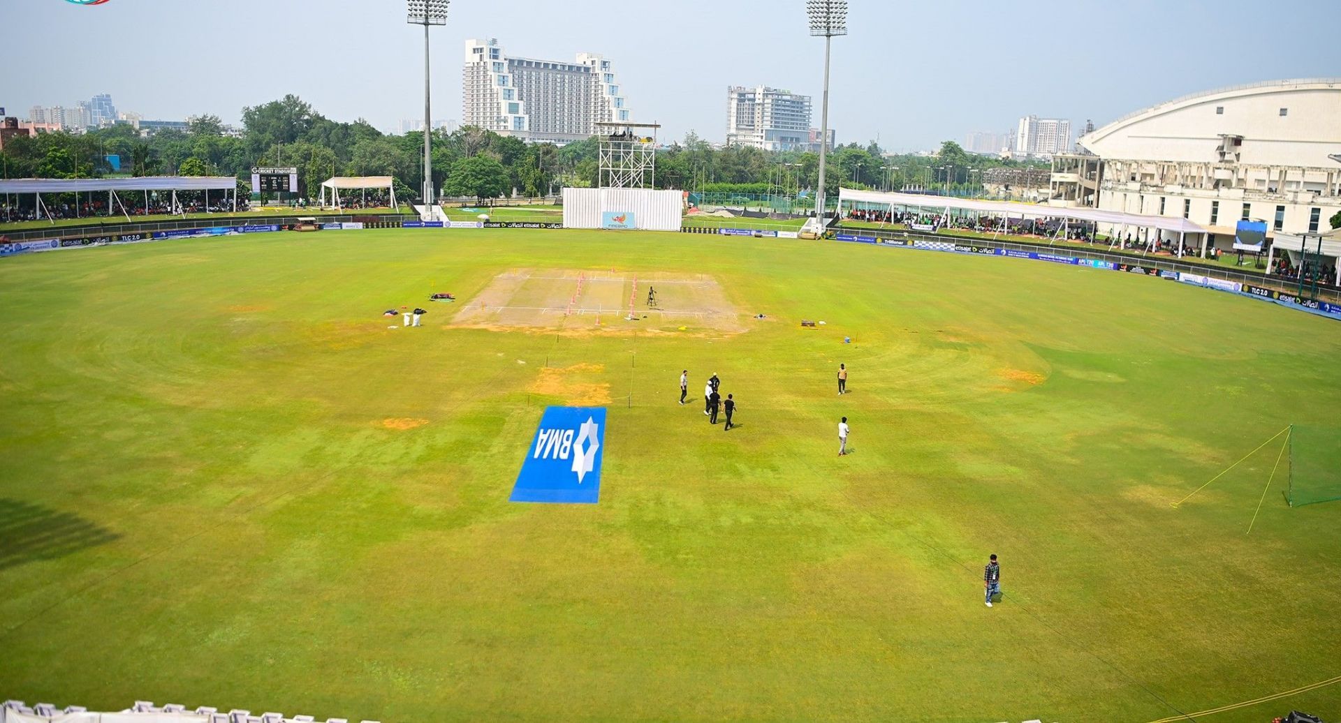
[[[1004,131],[1021,115],[1104,125],[1188,92],[1341,75],[1338,0],[850,0],[834,39],[838,142],[893,150]],[[153,119],[292,92],[338,120],[396,130],[422,116],[422,31],[404,0],[0,0],[0,106],[72,106],[109,92]],[[463,40],[614,62],[634,120],[725,135],[725,88],[815,96],[823,39],[803,0],[453,0],[433,28],[433,118],[461,118]]]

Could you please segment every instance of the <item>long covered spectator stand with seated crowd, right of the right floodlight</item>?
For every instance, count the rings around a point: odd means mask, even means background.
[[[1008,229],[1011,226],[1011,218],[1018,218],[1021,221],[1027,220],[1031,228],[1045,226],[1053,232],[1055,238],[1069,238],[1073,221],[1077,226],[1085,225],[1093,229],[1098,229],[1102,224],[1104,228],[1108,229],[1109,238],[1112,240],[1109,248],[1116,245],[1122,234],[1129,229],[1136,229],[1139,237],[1141,230],[1145,232],[1143,245],[1147,246],[1148,250],[1155,250],[1157,246],[1167,245],[1179,258],[1183,257],[1184,252],[1192,250],[1192,248],[1185,244],[1188,234],[1192,234],[1193,240],[1198,234],[1200,236],[1200,250],[1203,257],[1206,256],[1207,240],[1210,238],[1210,233],[1204,226],[1193,224],[1187,218],[1143,216],[1101,209],[1043,206],[1011,201],[923,195],[916,193],[865,191],[841,187],[838,189],[839,217],[842,216],[843,204],[849,204],[849,208],[852,209],[888,209],[888,216],[893,216],[896,209],[912,212],[913,216],[929,212],[932,214],[937,214],[937,218],[933,222],[937,228],[949,225],[952,222],[952,217],[995,216],[1000,218],[999,224],[992,225],[996,229],[996,233],[1000,233],[1000,229]],[[1039,221],[1043,221],[1043,224],[1038,224]],[[1169,236],[1165,237],[1165,233]],[[1176,248],[1173,248],[1175,238]]]

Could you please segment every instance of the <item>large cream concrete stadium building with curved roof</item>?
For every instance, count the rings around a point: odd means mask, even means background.
[[[1053,159],[1049,202],[1206,226],[1230,249],[1240,220],[1275,234],[1330,229],[1341,210],[1341,79],[1274,80],[1145,108]]]

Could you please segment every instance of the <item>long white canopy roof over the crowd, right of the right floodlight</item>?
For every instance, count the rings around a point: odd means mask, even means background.
[[[1110,237],[1120,236],[1118,229],[1155,229],[1160,232],[1176,233],[1179,237],[1179,256],[1183,250],[1183,240],[1189,233],[1202,236],[1202,254],[1206,254],[1207,229],[1187,218],[1173,218],[1167,216],[1143,216],[1136,213],[1122,213],[1101,209],[1074,209],[1058,206],[1041,206],[1035,204],[1019,204],[1014,201],[991,201],[986,198],[953,198],[944,195],[924,195],[917,193],[886,193],[866,191],[856,189],[838,189],[838,213],[842,214],[843,202],[869,204],[877,206],[894,206],[904,209],[932,209],[947,216],[951,212],[972,212],[979,214],[999,214],[1003,218],[1062,218],[1063,221],[1086,221],[1105,224],[1110,229]]]

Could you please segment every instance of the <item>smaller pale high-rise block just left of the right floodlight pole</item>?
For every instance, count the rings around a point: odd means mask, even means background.
[[[727,88],[727,145],[763,150],[810,143],[810,96],[758,86]]]

